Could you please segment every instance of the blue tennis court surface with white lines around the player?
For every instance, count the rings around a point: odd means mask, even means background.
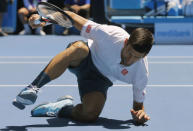
[[[193,46],[155,45],[148,56],[150,78],[145,109],[151,120],[137,126],[131,120],[132,88],[120,81],[108,91],[107,102],[96,123],[69,119],[33,118],[40,103],[72,95],[80,102],[76,78],[68,70],[42,88],[37,102],[25,110],[11,103],[47,63],[79,36],[8,36],[0,38],[0,130],[2,131],[192,131]]]

